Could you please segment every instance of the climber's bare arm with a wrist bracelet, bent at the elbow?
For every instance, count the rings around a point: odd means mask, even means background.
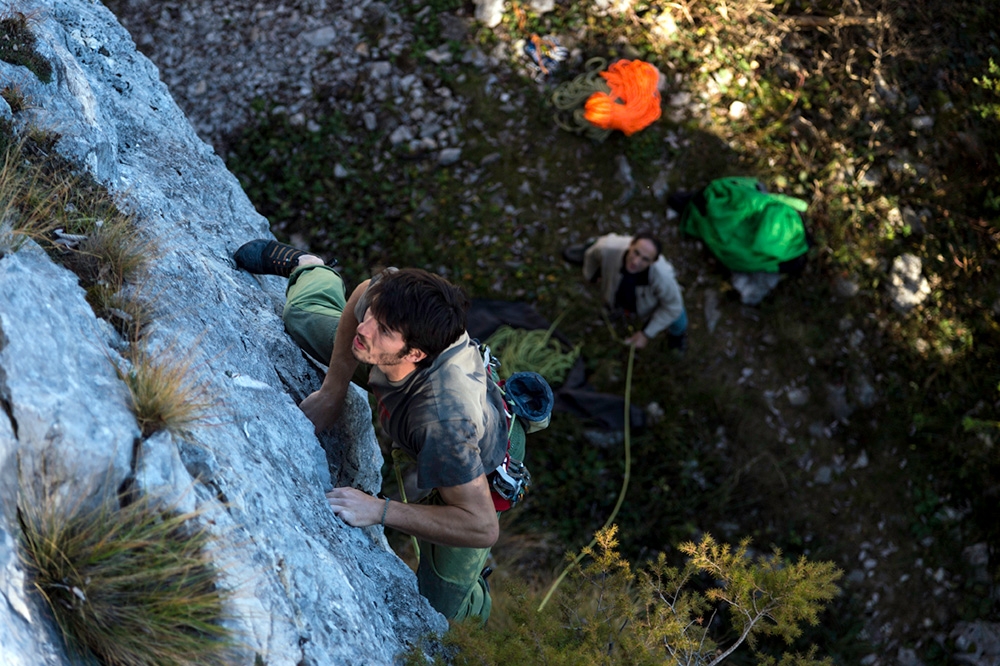
[[[460,486],[438,488],[444,505],[403,504],[372,497],[355,488],[326,494],[333,512],[354,527],[385,524],[419,539],[461,548],[489,548],[500,535],[485,474]]]

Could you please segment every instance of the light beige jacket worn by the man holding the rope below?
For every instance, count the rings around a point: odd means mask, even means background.
[[[631,236],[601,236],[587,248],[583,256],[583,277],[588,281],[593,280],[600,271],[601,295],[609,307],[615,305],[625,253],[631,242]],[[635,288],[635,302],[638,310],[636,314],[644,321],[647,318],[649,320],[642,330],[649,339],[670,326],[684,311],[684,299],[674,275],[674,267],[663,258],[662,253],[649,267],[649,284]]]

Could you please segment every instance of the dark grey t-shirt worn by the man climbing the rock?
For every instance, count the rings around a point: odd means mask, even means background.
[[[361,299],[358,321],[367,311]],[[391,382],[372,367],[369,388],[378,398],[379,423],[395,445],[417,461],[424,490],[459,486],[488,474],[507,452],[503,397],[487,381],[483,358],[468,333],[427,368]]]

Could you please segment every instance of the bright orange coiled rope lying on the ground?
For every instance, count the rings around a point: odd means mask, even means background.
[[[619,60],[601,76],[610,93],[595,92],[587,99],[583,117],[601,129],[618,129],[626,136],[648,127],[660,117],[660,74],[638,60]]]

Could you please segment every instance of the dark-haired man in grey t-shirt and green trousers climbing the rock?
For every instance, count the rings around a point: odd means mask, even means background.
[[[523,460],[524,430],[516,421],[508,430],[504,398],[465,330],[468,299],[419,269],[383,271],[345,299],[344,281],[322,259],[276,241],[250,241],[234,259],[251,273],[288,277],[285,327],[329,359],[322,386],[299,405],[316,432],[337,421],[355,369],[367,364],[382,428],[416,461],[418,486],[433,489],[418,504],[335,488],[334,513],[354,527],[416,537],[420,593],[448,618],[485,622],[492,601],[483,572],[503,507],[491,475]]]

